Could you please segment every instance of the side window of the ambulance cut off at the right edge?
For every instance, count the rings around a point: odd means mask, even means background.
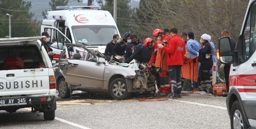
[[[256,3],[253,3],[247,22],[243,31],[244,44],[243,44],[243,58],[247,61],[256,50],[256,36],[255,36],[255,17],[256,17]]]

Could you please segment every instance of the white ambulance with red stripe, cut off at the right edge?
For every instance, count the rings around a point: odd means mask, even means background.
[[[227,19],[229,20],[229,19]],[[256,0],[250,0],[235,51],[219,39],[220,61],[232,64],[226,99],[231,129],[256,129]]]

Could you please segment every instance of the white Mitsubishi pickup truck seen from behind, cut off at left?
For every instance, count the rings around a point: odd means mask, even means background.
[[[0,110],[32,107],[54,120],[56,84],[42,37],[0,39]]]

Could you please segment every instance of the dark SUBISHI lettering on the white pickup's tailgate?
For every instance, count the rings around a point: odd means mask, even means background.
[[[42,80],[0,82],[0,90],[43,87]]]

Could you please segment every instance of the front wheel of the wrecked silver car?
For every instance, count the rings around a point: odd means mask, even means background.
[[[114,99],[126,99],[131,93],[128,93],[128,88],[125,79],[117,78],[110,84],[110,95]]]

